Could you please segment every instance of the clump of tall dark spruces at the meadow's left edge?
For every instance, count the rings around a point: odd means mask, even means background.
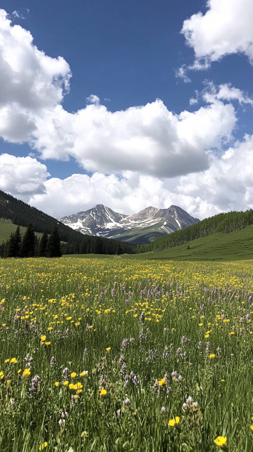
[[[44,232],[42,237],[37,237],[32,223],[29,223],[23,238],[20,226],[17,226],[9,239],[0,245],[0,257],[61,257],[61,240],[57,225],[53,226],[50,235]]]

